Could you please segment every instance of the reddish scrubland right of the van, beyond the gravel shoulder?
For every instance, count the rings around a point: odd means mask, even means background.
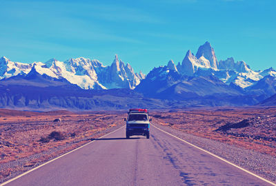
[[[168,110],[152,121],[215,141],[276,157],[276,107]]]

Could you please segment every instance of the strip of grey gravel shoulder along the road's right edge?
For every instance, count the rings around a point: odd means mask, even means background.
[[[221,158],[226,159],[250,172],[253,172],[259,176],[262,176],[272,182],[276,182],[276,158],[267,154],[261,154],[249,149],[243,149],[235,145],[228,145],[218,141],[213,141],[208,138],[201,138],[199,136],[193,136],[186,134],[178,130],[152,123],[159,127],[161,130],[169,132],[179,138],[197,145],[202,149],[206,149],[208,152],[216,154]]]

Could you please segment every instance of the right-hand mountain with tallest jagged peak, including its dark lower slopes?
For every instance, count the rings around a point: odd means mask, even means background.
[[[206,42],[196,55],[188,50],[182,63],[175,65],[170,60],[168,65],[151,70],[135,90],[158,99],[221,97],[221,103],[228,98],[230,103],[239,100],[252,105],[276,93],[276,71],[254,71],[233,57],[218,61],[215,50]]]

